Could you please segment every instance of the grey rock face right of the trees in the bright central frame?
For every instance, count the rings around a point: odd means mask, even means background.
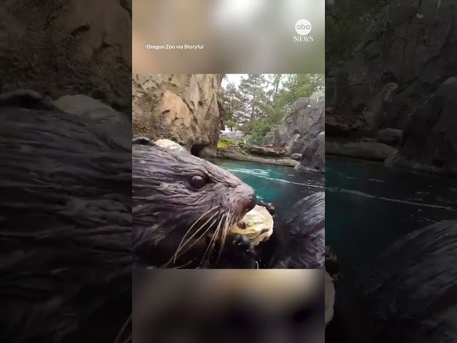
[[[268,132],[265,144],[286,146],[288,154],[299,153],[325,130],[325,91],[316,91],[309,99],[300,98],[279,124]]]

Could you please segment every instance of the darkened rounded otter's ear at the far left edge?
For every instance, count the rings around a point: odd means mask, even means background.
[[[20,107],[23,109],[41,109],[55,111],[57,107],[45,96],[30,89],[17,89],[0,94],[0,107]]]

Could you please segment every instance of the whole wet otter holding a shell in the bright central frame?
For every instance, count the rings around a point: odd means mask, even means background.
[[[133,142],[136,266],[323,268],[323,192],[302,199],[276,217],[271,239],[258,247],[249,247],[242,235],[225,237],[224,245],[215,240],[212,249],[218,258],[214,260],[206,255],[209,237],[215,229],[226,230],[254,207],[251,187],[187,151],[164,149],[144,137]],[[275,214],[271,204],[258,204]],[[186,240],[190,248],[181,247]],[[183,252],[181,258],[174,258],[176,252]]]

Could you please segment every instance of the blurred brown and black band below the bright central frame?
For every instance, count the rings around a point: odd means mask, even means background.
[[[133,342],[324,342],[323,289],[317,269],[139,272]]]

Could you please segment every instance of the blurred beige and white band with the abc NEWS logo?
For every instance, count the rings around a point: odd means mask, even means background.
[[[297,41],[301,19],[313,41]],[[132,20],[134,74],[324,71],[324,1],[136,0]]]

